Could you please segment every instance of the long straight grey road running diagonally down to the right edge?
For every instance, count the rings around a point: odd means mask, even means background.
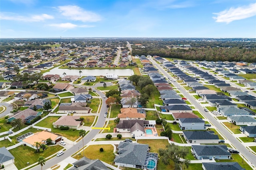
[[[155,65],[158,70],[160,70],[166,77],[171,78],[172,77],[164,70],[156,61],[154,61],[152,58],[149,58],[150,61]],[[203,70],[204,71],[204,70]],[[244,156],[253,166],[256,165],[256,155],[252,154],[244,145],[241,144],[226,128],[224,128],[209,112],[204,111],[204,107],[202,107],[195,99],[192,97],[185,89],[180,86],[179,83],[173,82],[172,84],[175,85],[175,87],[180,87],[180,91],[182,94],[191,102],[193,105],[214,125],[220,133],[228,139],[233,146],[240,151],[240,154]]]

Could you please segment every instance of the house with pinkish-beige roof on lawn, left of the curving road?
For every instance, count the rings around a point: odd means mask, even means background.
[[[52,125],[54,128],[64,126],[77,129],[80,123],[80,116],[62,116],[56,122],[52,123]]]

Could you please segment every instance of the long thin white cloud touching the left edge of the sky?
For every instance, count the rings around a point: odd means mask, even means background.
[[[13,20],[13,21],[23,21],[23,22],[42,22],[44,20],[54,19],[53,16],[48,14],[34,15],[30,17],[18,16],[14,13],[0,13],[0,20]]]

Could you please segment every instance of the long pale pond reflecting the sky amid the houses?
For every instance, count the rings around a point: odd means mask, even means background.
[[[82,73],[81,76],[99,76],[106,74],[116,74],[118,76],[131,76],[134,75],[134,72],[132,69],[81,69]],[[44,75],[47,74],[58,74],[60,77],[62,77],[63,73],[66,73],[66,75],[78,75],[79,76],[79,70],[78,69],[59,69],[58,67],[51,69],[49,72],[44,73]]]

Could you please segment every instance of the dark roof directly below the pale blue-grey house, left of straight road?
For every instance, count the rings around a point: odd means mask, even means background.
[[[214,131],[183,131],[184,136],[188,140],[209,140],[209,139],[219,139],[217,134],[214,134]]]

